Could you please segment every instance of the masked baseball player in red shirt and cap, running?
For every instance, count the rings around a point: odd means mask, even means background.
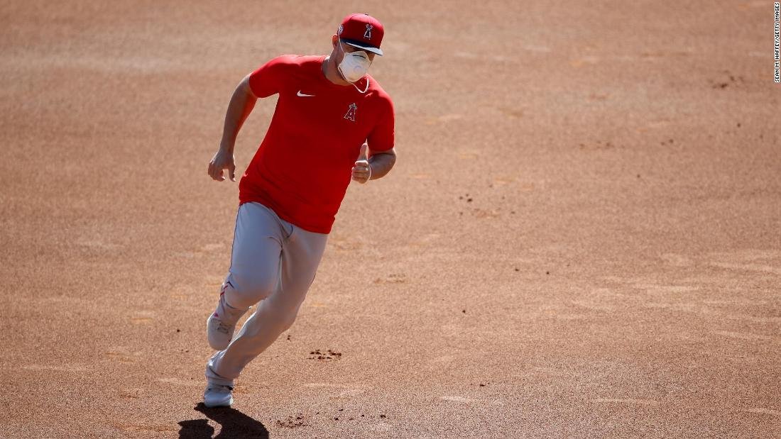
[[[234,380],[293,324],[314,281],[334,217],[351,179],[380,179],[393,168],[394,107],[367,74],[383,55],[383,26],[352,14],[331,37],[330,55],[282,55],[241,80],[230,98],[223,139],[209,175],[235,179],[234,143],[259,97],[276,110],[239,183],[230,270],[207,320],[216,352],[206,365],[204,403],[233,403]],[[236,338],[237,320],[255,312]]]

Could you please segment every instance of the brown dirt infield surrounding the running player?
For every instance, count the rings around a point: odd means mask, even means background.
[[[5,2],[0,437],[781,437],[773,4],[679,3]],[[398,163],[205,409],[226,104],[348,12]]]

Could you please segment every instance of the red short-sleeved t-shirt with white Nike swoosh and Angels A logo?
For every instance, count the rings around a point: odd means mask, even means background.
[[[282,55],[255,70],[257,97],[279,94],[271,125],[239,183],[240,204],[257,201],[310,232],[330,233],[361,145],[394,146],[391,97],[371,76],[341,86],[323,75],[325,56]]]

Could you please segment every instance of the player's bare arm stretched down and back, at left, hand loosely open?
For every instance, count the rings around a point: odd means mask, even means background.
[[[230,181],[236,181],[236,162],[234,160],[234,146],[239,129],[247,120],[248,115],[255,108],[258,97],[252,93],[249,87],[249,75],[244,76],[241,83],[230,97],[230,103],[225,113],[225,125],[223,126],[223,140],[219,142],[219,150],[209,161],[209,175],[212,179],[222,182],[225,180],[224,170],[228,170]]]

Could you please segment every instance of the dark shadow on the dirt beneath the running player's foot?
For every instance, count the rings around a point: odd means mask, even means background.
[[[231,439],[241,437],[260,437],[267,439],[269,430],[258,420],[239,412],[237,409],[229,407],[219,407],[209,409],[203,405],[203,402],[196,405],[194,409],[198,410],[222,426],[222,430],[215,436],[215,439]],[[187,439],[211,439],[214,434],[214,427],[209,425],[208,420],[186,420],[180,421],[179,437]]]

